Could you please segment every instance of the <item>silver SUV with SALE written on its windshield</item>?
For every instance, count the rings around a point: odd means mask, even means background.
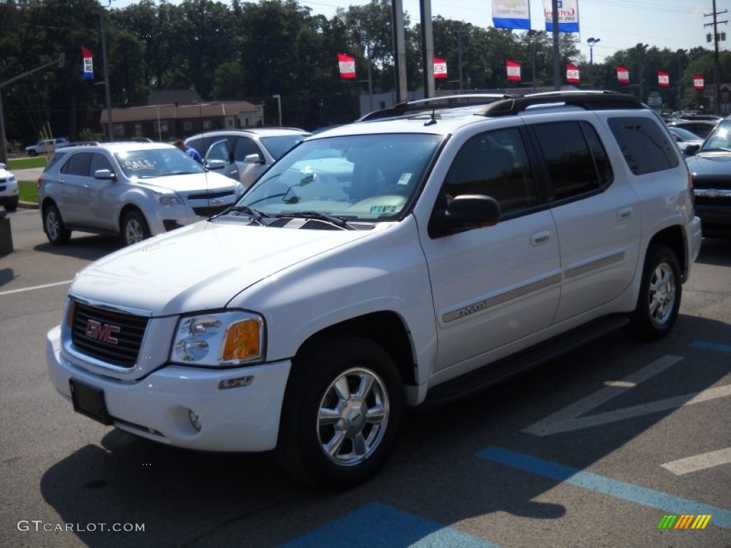
[[[243,194],[238,181],[164,143],[59,148],[38,184],[43,229],[53,244],[80,230],[118,235],[129,245],[220,213]]]

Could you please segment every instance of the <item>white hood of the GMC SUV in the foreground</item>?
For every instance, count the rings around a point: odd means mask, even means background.
[[[78,273],[69,293],[154,316],[223,308],[264,278],[378,231],[201,221],[99,259]]]

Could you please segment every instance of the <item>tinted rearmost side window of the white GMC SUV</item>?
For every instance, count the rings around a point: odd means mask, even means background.
[[[635,175],[678,167],[678,145],[651,118],[610,118],[609,127]]]

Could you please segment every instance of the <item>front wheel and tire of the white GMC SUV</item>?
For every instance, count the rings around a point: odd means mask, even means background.
[[[401,376],[381,346],[346,337],[312,347],[287,381],[279,462],[314,487],[363,483],[385,464],[403,409]]]

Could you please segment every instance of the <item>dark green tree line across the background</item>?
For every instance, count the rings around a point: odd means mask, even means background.
[[[409,91],[423,88],[418,19],[418,13],[404,17]],[[44,127],[72,140],[98,133],[105,72],[113,107],[145,104],[150,90],[194,88],[205,101],[264,104],[265,123],[273,124],[272,95],[277,94],[284,123],[306,129],[357,118],[359,98],[369,87],[376,94],[395,89],[390,0],[341,8],[332,18],[311,15],[297,0],[230,5],[141,0],[122,9],[97,0],[30,0],[0,9],[0,28],[0,81],[48,64],[60,53],[66,58],[61,68],[51,66],[3,89],[7,137],[26,145]],[[433,53],[445,58],[449,69],[447,80],[436,82],[438,89],[553,85],[553,37],[544,31],[529,36],[437,17],[433,36]],[[713,82],[713,52],[703,47],[677,52],[632,47],[588,66],[573,39],[560,37],[561,78],[565,64],[577,64],[583,87],[629,91],[643,99],[659,91],[663,103],[677,109],[703,101],[693,88],[694,74],[703,75],[707,86]],[[94,80],[81,77],[81,47],[94,56]],[[356,80],[339,77],[337,53],[355,57]],[[522,65],[521,83],[507,81],[507,59]],[[618,64],[629,68],[632,85],[617,82]],[[661,69],[670,74],[670,88],[657,85]],[[718,74],[721,82],[731,80],[731,53],[721,53]]]

